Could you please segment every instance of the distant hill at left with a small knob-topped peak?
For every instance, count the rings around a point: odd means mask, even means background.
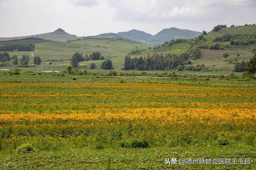
[[[42,38],[52,41],[60,41],[60,42],[67,42],[67,41],[73,41],[76,39],[80,39],[80,37],[77,37],[76,35],[71,35],[69,33],[66,33],[63,29],[58,28],[54,32],[51,33],[42,33],[37,35],[29,35],[29,36],[23,36],[23,37],[9,37],[9,38],[3,38],[0,37],[0,41],[8,41],[13,39],[24,39],[24,38]]]

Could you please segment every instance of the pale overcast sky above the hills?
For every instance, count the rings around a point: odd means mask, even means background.
[[[0,37],[52,32],[78,36],[164,28],[210,31],[256,23],[255,0],[0,0]]]

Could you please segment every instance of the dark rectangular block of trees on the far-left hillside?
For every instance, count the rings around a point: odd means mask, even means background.
[[[0,46],[0,51],[34,51],[33,43],[10,43]]]

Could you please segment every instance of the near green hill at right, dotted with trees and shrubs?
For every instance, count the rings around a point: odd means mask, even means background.
[[[238,27],[221,28],[216,32],[209,32],[207,35],[200,35],[192,39],[176,39],[166,42],[158,47],[143,51],[136,57],[146,57],[149,53],[181,54],[188,53],[193,59],[192,66],[204,64],[208,70],[226,70],[230,72],[237,63],[236,54],[240,53],[238,62],[248,61],[254,56],[256,49],[256,25],[246,25]],[[217,37],[217,38],[216,38]],[[231,43],[234,41],[234,44]],[[254,51],[254,53],[253,53]],[[198,55],[200,52],[200,56]],[[225,61],[222,56],[228,53],[229,57]],[[199,58],[199,59],[197,59]],[[186,65],[190,66],[190,64]]]

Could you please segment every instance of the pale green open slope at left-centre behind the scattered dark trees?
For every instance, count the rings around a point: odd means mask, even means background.
[[[115,69],[121,69],[122,64],[124,64],[124,57],[132,51],[133,49],[147,49],[152,47],[151,45],[146,45],[142,43],[136,43],[134,41],[124,41],[124,40],[110,40],[110,39],[84,39],[73,41],[71,43],[62,43],[57,41],[48,40],[30,40],[35,43],[36,51],[12,51],[8,52],[10,56],[18,55],[29,55],[30,64],[33,63],[35,56],[40,56],[42,59],[41,66],[38,69],[43,69],[48,66],[50,68],[62,68],[62,66],[69,65],[70,58],[76,52],[90,55],[93,51],[100,51],[100,53],[108,58],[110,56],[113,66]],[[15,41],[17,42],[17,41]],[[46,63],[49,59],[63,59],[64,62],[52,62],[52,65]],[[80,65],[89,66],[90,63],[95,63],[97,68],[100,68],[102,61],[85,61],[81,62]],[[33,69],[33,68],[30,68]]]

